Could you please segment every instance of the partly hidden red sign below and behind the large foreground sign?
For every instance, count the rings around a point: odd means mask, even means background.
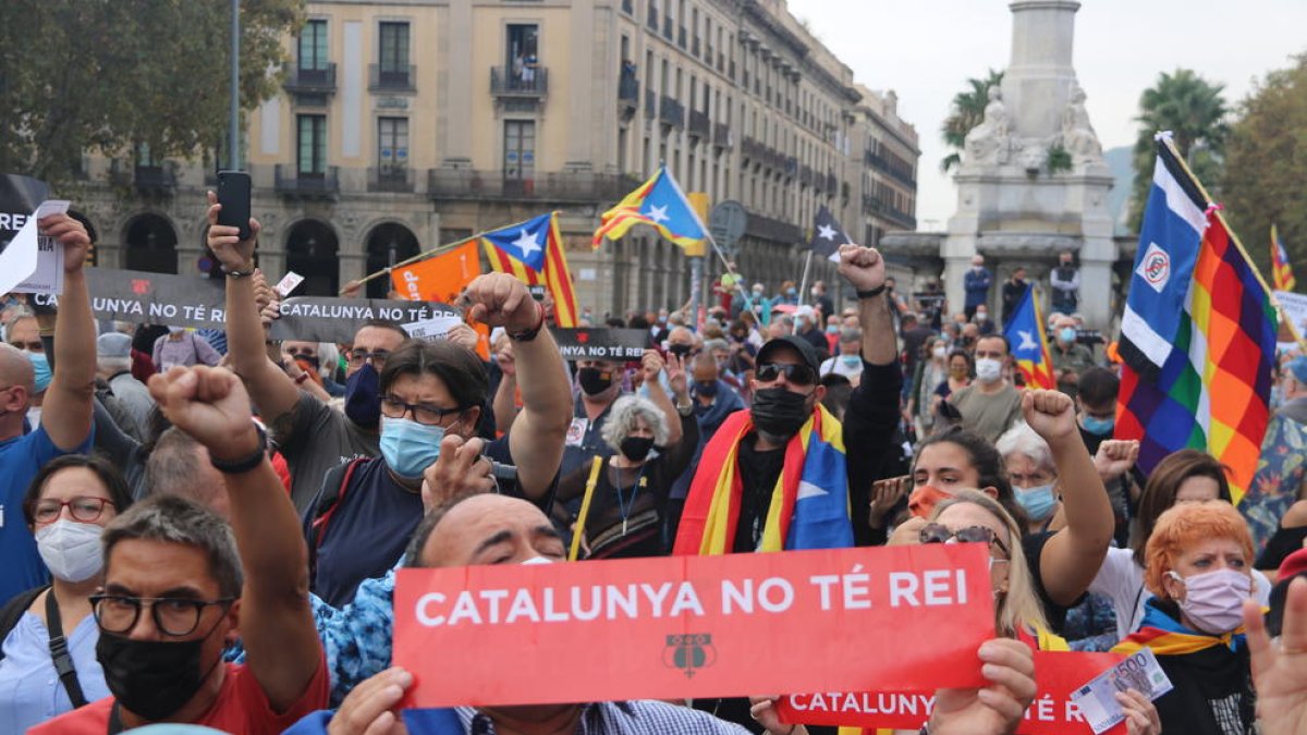
[[[919,645],[919,638],[903,638],[894,649],[895,655],[906,646]],[[974,651],[972,651],[974,653]],[[1019,735],[1094,735],[1078,708],[1070,701],[1072,693],[1086,681],[1116,666],[1116,654],[1082,654],[1072,651],[1035,651],[1035,683],[1039,691],[1025,721],[1017,727]],[[863,692],[822,692],[816,694],[789,694],[776,701],[782,722],[826,726],[852,726],[876,728],[919,730],[931,717],[935,689],[893,689]],[[1125,723],[1107,732],[1125,732]]]

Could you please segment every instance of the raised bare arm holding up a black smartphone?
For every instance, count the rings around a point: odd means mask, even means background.
[[[252,273],[254,250],[259,242],[259,221],[250,220],[250,239],[242,242],[237,228],[217,224],[220,209],[222,205],[210,191],[209,248],[229,273]],[[254,280],[250,276],[227,277],[226,307],[227,357],[231,369],[244,381],[264,421],[269,426],[277,426],[277,439],[285,443],[289,437],[281,432],[289,426],[289,421],[281,417],[289,416],[295,408],[299,388],[290,375],[268,358],[259,306],[255,302]]]

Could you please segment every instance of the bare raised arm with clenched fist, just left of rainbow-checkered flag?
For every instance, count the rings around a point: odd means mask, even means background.
[[[1076,430],[1076,407],[1059,391],[1021,395],[1026,422],[1048,442],[1061,485],[1067,527],[1053,534],[1039,557],[1044,591],[1057,604],[1074,603],[1098,574],[1112,540],[1115,519],[1103,480]]]

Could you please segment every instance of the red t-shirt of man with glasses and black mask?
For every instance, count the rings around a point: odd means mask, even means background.
[[[222,679],[222,689],[209,711],[191,725],[203,725],[223,732],[248,735],[278,735],[306,714],[327,708],[331,683],[327,677],[327,657],[323,654],[299,701],[277,714],[268,705],[259,680],[246,664],[229,663]],[[81,709],[61,714],[50,722],[29,730],[29,735],[105,735],[114,697],[105,697]]]

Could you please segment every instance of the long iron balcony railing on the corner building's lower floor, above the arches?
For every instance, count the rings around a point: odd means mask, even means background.
[[[561,203],[618,201],[640,186],[625,175],[552,173],[520,178],[502,171],[431,169],[427,196],[431,199],[508,199]]]

